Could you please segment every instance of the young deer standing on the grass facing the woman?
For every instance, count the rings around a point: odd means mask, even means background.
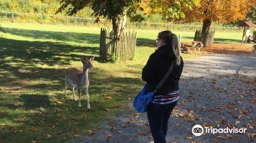
[[[74,67],[65,69],[66,82],[65,82],[65,86],[64,86],[64,89],[65,89],[64,96],[66,96],[68,84],[71,84],[72,92],[73,92],[73,99],[74,99],[74,101],[76,101],[75,91],[74,91],[74,89],[76,87],[77,92],[78,92],[78,97],[79,97],[78,107],[81,107],[80,90],[81,90],[81,88],[85,88],[88,110],[90,110],[89,93],[88,93],[88,88],[89,88],[88,69],[93,68],[93,64],[91,62],[94,60],[94,58],[95,57],[91,57],[90,59],[80,58],[82,65],[83,65],[82,71],[77,68],[74,68]]]

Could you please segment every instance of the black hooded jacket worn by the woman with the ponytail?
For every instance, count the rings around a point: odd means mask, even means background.
[[[170,44],[159,47],[151,54],[146,65],[142,69],[142,80],[146,81],[146,89],[148,92],[154,91],[157,84],[167,73],[170,64],[175,61],[175,55]],[[168,92],[179,90],[179,80],[183,69],[183,60],[181,64],[175,65],[172,73],[168,76],[162,87],[155,93],[167,94]]]

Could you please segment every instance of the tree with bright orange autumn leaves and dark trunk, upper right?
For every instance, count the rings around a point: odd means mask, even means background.
[[[186,17],[183,22],[203,21],[202,33],[209,31],[212,21],[222,23],[235,22],[246,18],[250,6],[256,3],[251,0],[201,0],[198,6],[184,9]]]

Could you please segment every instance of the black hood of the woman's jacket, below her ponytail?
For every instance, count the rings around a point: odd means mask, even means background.
[[[160,54],[161,57],[168,61],[173,61],[176,59],[174,52],[173,52],[173,46],[171,44],[166,44],[160,46],[156,52]]]

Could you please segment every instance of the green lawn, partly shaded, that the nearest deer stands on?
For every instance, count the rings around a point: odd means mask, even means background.
[[[137,30],[135,60],[113,64],[101,62],[98,57],[99,28],[33,23],[0,25],[0,124],[6,124],[0,125],[3,142],[79,141],[103,121],[123,113],[128,98],[133,98],[144,84],[141,69],[155,51],[154,39],[159,32]],[[175,33],[183,35],[182,41],[193,40],[194,33]],[[224,35],[232,39],[225,39]],[[216,39],[217,42],[239,42],[240,35],[237,35],[216,33]],[[81,69],[79,58],[91,56],[96,58],[94,68],[89,70],[91,110],[88,111],[84,90],[81,108],[78,102],[73,102],[71,90],[63,96],[63,69],[71,66]],[[198,55],[182,56],[186,60]],[[107,100],[106,96],[113,99]],[[84,121],[84,116],[88,116],[88,120]],[[37,130],[32,131],[33,127]],[[77,131],[79,137],[75,136]],[[47,139],[47,134],[52,138]]]

